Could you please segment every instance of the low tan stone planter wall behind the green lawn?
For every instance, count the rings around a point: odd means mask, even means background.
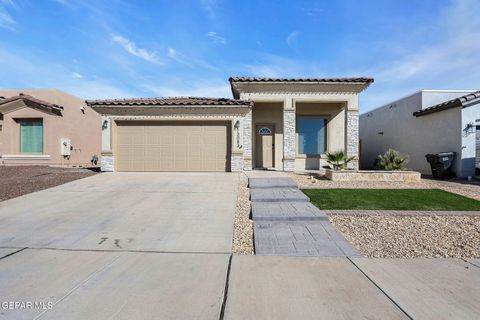
[[[415,171],[327,169],[325,170],[325,177],[332,181],[420,182],[420,173]]]

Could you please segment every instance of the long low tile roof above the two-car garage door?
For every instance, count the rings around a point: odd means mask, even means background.
[[[90,106],[114,105],[114,106],[250,106],[253,101],[226,99],[226,98],[204,98],[204,97],[172,97],[172,98],[133,98],[133,99],[106,99],[86,100]]]

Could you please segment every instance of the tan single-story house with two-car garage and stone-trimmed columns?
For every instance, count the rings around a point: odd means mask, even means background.
[[[230,78],[234,99],[88,100],[102,115],[104,171],[318,170],[358,165],[358,94],[370,78]]]

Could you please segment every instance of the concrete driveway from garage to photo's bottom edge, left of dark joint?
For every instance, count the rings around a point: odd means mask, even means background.
[[[0,202],[0,318],[218,319],[238,178],[100,174]]]

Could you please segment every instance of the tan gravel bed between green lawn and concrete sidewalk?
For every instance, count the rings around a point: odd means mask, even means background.
[[[480,216],[345,216],[330,222],[367,257],[480,257]]]

